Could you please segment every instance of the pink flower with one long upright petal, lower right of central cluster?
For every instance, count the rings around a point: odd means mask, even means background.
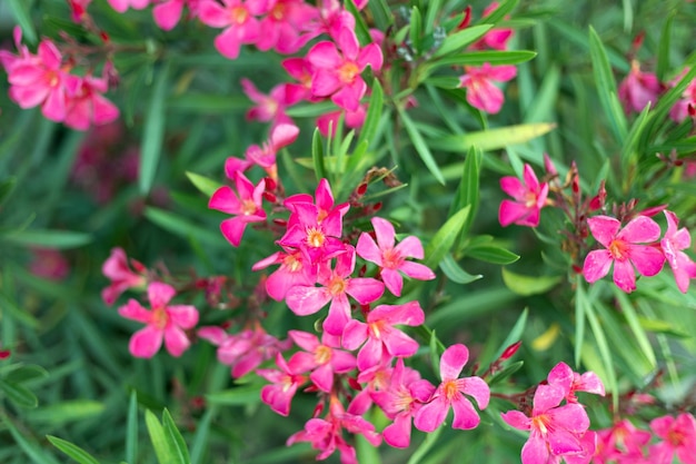
[[[464,396],[473,396],[480,409],[488,406],[490,389],[488,384],[480,377],[459,378],[461,369],[469,361],[469,349],[461,344],[456,344],[443,353],[440,357],[441,383],[417,412],[414,421],[416,428],[422,432],[434,432],[439,427],[451,407],[455,411],[453,428],[475,428],[480,417],[471,402]]]

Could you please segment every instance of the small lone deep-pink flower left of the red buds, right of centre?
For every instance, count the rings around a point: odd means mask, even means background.
[[[523,181],[517,177],[507,176],[500,179],[500,188],[515,201],[505,199],[500,203],[498,220],[503,227],[510,224],[537,227],[541,208],[547,204],[548,184],[540,182],[531,166],[525,165]]]

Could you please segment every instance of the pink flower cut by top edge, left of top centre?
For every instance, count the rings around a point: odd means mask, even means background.
[[[266,13],[266,0],[201,0],[200,20],[212,28],[225,28],[215,38],[215,48],[229,59],[239,56],[243,43],[256,43],[261,37],[259,20],[255,16]]]

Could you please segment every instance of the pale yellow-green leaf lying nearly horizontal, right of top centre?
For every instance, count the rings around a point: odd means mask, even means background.
[[[484,151],[497,150],[508,145],[525,144],[531,139],[550,132],[556,128],[554,122],[535,122],[507,126],[498,129],[481,130],[461,135],[445,136],[428,140],[432,148],[465,154],[471,147]]]

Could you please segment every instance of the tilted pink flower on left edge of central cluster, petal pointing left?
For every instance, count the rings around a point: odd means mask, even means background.
[[[301,250],[286,248],[285,251],[276,251],[256,263],[251,270],[265,269],[276,264],[280,265],[268,276],[265,285],[268,296],[276,302],[281,302],[291,287],[296,285],[312,286],[317,282],[315,266],[309,260],[309,257]]]

